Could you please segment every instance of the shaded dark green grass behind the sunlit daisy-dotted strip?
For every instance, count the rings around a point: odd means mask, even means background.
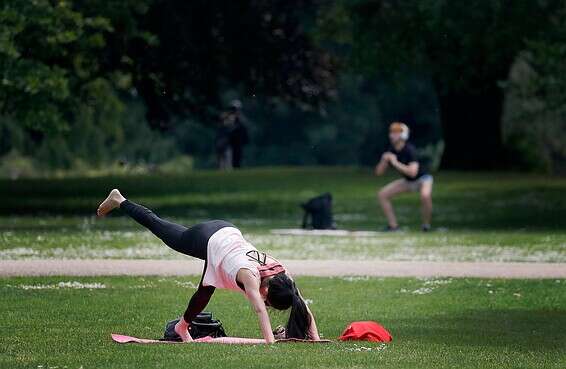
[[[369,168],[302,167],[195,171],[186,176],[3,180],[0,213],[94,215],[108,191],[118,187],[132,200],[163,215],[251,219],[247,224],[250,228],[267,229],[297,226],[301,219],[299,203],[329,191],[334,195],[341,227],[376,229],[384,225],[376,191],[394,178],[376,178]],[[566,178],[561,177],[439,173],[434,187],[435,223],[448,229],[563,229],[565,189]],[[396,205],[403,224],[419,224],[418,196],[403,196]],[[8,227],[9,223],[2,222],[2,228]]]

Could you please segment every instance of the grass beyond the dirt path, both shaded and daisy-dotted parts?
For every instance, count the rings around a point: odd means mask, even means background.
[[[434,225],[419,232],[419,200],[396,200],[404,232],[378,237],[274,236],[297,227],[301,201],[330,191],[340,228],[379,230],[376,190],[391,180],[369,169],[273,168],[183,177],[0,181],[0,259],[179,258],[119,212],[93,214],[108,190],[183,224],[223,218],[280,258],[566,262],[566,178],[513,173],[435,176]]]

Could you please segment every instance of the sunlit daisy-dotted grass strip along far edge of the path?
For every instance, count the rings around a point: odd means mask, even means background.
[[[114,221],[117,219],[109,219],[105,224]],[[134,226],[138,229],[5,231],[0,234],[0,260],[187,258],[143,227]],[[566,234],[542,231],[404,232],[334,237],[282,236],[244,229],[244,235],[258,249],[281,259],[566,262]]]

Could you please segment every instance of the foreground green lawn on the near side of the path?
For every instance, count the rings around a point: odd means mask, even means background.
[[[376,320],[391,344],[118,345],[158,337],[195,278],[0,279],[2,368],[564,368],[566,280],[298,278],[325,338]],[[83,286],[103,287],[76,289]],[[67,286],[67,287],[65,287]],[[258,337],[245,299],[215,294],[231,335]],[[272,314],[274,324],[286,316]]]

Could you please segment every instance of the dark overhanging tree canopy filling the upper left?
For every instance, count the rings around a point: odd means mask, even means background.
[[[312,16],[309,1],[6,2],[2,115],[61,129],[80,105],[119,91],[166,127],[209,116],[227,87],[316,109],[334,93],[334,66],[308,37]]]

